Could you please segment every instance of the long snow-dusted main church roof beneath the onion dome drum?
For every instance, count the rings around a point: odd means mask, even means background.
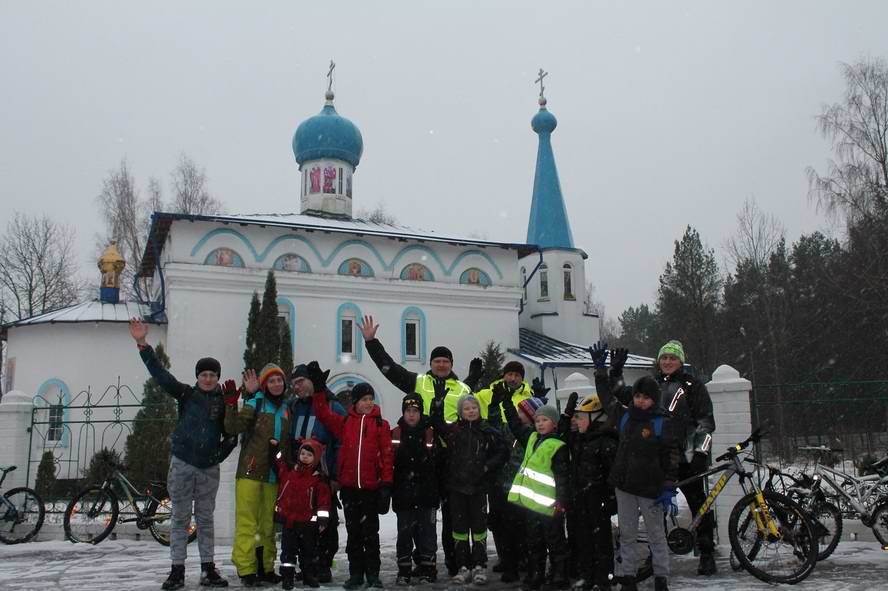
[[[492,240],[480,240],[477,238],[447,236],[430,230],[421,230],[400,224],[383,224],[362,219],[343,219],[299,213],[188,215],[181,213],[156,212],[152,216],[151,230],[149,232],[147,246],[145,247],[145,256],[142,257],[142,270],[140,276],[148,277],[154,273],[157,257],[160,256],[163,245],[166,243],[166,237],[169,234],[170,226],[176,220],[195,222],[206,221],[221,224],[243,224],[260,227],[304,228],[307,230],[321,230],[325,232],[341,232],[343,234],[421,240],[423,242],[511,248],[518,251],[519,258],[527,256],[532,252],[537,252],[538,250],[533,244],[496,242]],[[157,245],[157,252],[154,252],[154,249],[152,248],[153,244]]]

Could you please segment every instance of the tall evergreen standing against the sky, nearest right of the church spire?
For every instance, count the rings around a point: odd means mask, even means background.
[[[715,252],[704,248],[700,234],[688,226],[675,241],[672,262],[660,275],[657,318],[662,334],[684,345],[687,362],[702,376],[715,369],[716,320],[721,295]]]

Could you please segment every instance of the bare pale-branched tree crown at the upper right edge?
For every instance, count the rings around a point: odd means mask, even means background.
[[[855,222],[888,202],[888,62],[841,64],[845,97],[823,107],[820,132],[835,160],[824,174],[808,167],[809,197],[827,213]]]

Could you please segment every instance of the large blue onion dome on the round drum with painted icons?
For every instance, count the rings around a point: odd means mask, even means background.
[[[293,155],[296,162],[333,158],[358,166],[364,151],[364,140],[358,127],[341,117],[333,107],[333,93],[320,113],[299,124],[293,134]]]

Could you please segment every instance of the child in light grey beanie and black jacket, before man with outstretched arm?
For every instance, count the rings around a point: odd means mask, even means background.
[[[445,422],[446,395],[441,389],[435,392],[432,426],[443,437],[449,451],[446,482],[450,493],[454,566],[458,569],[451,581],[459,585],[483,585],[487,583],[487,480],[506,463],[509,450],[499,431],[481,418],[481,405],[471,394],[459,397],[458,420]],[[470,565],[474,565],[471,572]]]

